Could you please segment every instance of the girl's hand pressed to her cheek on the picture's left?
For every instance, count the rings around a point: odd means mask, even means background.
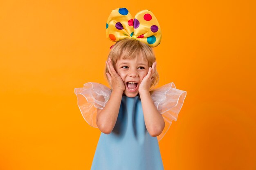
[[[124,91],[125,90],[125,86],[124,86],[124,82],[121,79],[121,77],[119,76],[119,74],[115,71],[115,68],[112,65],[111,59],[108,58],[108,60],[106,61],[106,65],[108,67],[108,72],[107,77],[110,81],[110,86],[112,88],[112,90],[121,90]]]

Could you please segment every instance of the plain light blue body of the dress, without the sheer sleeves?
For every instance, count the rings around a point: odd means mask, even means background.
[[[139,96],[123,96],[110,134],[101,132],[91,170],[163,170],[157,137],[146,129]]]

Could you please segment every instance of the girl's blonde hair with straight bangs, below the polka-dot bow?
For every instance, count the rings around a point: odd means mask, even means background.
[[[148,61],[148,67],[152,67],[155,62],[155,54],[153,53],[152,47],[148,46],[143,42],[133,39],[124,39],[118,41],[111,49],[108,58],[111,59],[112,65],[115,67],[117,60],[122,59],[134,59],[137,60],[138,57],[142,57],[144,60]],[[105,67],[105,77],[108,80],[106,75],[108,72],[107,66]],[[153,80],[150,85],[150,90],[156,86],[159,82],[159,75],[157,70],[153,74]],[[109,80],[108,83],[110,84]]]

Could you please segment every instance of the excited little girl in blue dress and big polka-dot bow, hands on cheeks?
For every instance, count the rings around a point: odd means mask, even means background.
[[[158,142],[177,120],[186,97],[172,83],[158,83],[155,55],[161,30],[152,12],[133,19],[126,8],[112,11],[107,37],[117,43],[106,61],[108,87],[89,82],[75,88],[78,106],[101,135],[91,170],[163,170]]]

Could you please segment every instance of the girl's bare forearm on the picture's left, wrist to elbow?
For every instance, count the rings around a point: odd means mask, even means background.
[[[109,134],[115,127],[123,91],[113,90],[106,106],[97,112],[96,124],[101,132]]]

